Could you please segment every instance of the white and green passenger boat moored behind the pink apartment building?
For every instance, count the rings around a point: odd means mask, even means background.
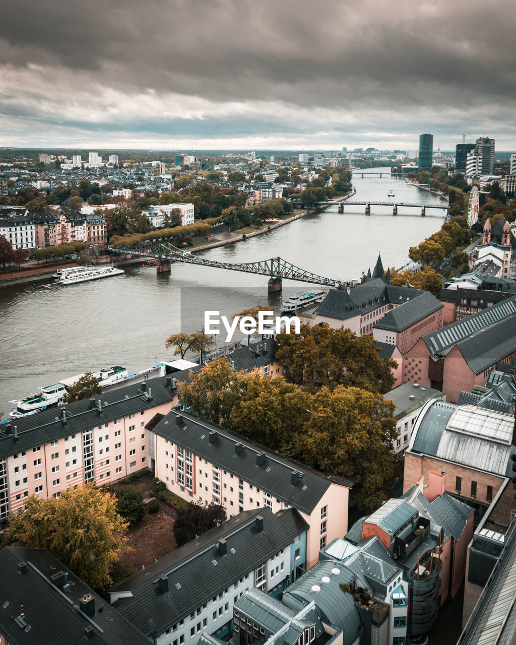
[[[113,385],[114,383],[125,381],[129,378],[127,368],[115,365],[113,367],[103,368],[99,372],[92,372],[92,374],[99,379],[99,384],[103,387]],[[44,388],[39,388],[38,394],[31,394],[19,401],[10,401],[16,404],[15,410],[9,414],[10,417],[22,417],[23,415],[37,412],[38,410],[45,410],[45,408],[52,408],[53,406],[63,403],[63,398],[68,393],[68,388],[76,381],[84,376],[84,374],[77,374],[69,379],[62,379],[59,383],[54,385],[47,385]]]

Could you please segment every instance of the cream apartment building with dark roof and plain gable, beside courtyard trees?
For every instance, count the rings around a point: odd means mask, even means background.
[[[326,476],[193,415],[172,410],[147,424],[156,476],[186,501],[224,504],[228,514],[293,507],[308,523],[307,566],[348,527],[352,482]]]

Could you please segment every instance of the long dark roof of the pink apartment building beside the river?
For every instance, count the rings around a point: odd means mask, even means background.
[[[141,383],[132,382],[122,388],[108,388],[106,392],[96,394],[92,398],[101,401],[100,415],[92,409],[90,399],[83,399],[69,403],[65,408],[49,408],[13,419],[10,424],[0,424],[0,459],[69,437],[75,432],[90,430],[101,423],[121,419],[128,414],[152,410],[168,402],[172,404],[175,391],[172,392],[171,388],[166,386],[166,377],[146,381],[146,392],[141,388]],[[148,397],[149,390],[152,399]],[[66,424],[63,424],[63,409],[66,410]],[[10,434],[7,434],[8,430]],[[19,437],[18,441],[14,440],[15,432]]]

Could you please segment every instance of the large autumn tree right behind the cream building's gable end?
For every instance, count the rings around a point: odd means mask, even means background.
[[[309,466],[355,482],[353,504],[371,512],[390,497],[396,436],[394,404],[359,388],[322,388],[296,440]]]

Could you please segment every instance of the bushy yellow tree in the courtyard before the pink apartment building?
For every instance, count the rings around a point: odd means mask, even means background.
[[[88,484],[25,503],[25,511],[10,517],[10,544],[48,549],[93,588],[111,584],[110,566],[124,550],[127,528],[112,493]]]

